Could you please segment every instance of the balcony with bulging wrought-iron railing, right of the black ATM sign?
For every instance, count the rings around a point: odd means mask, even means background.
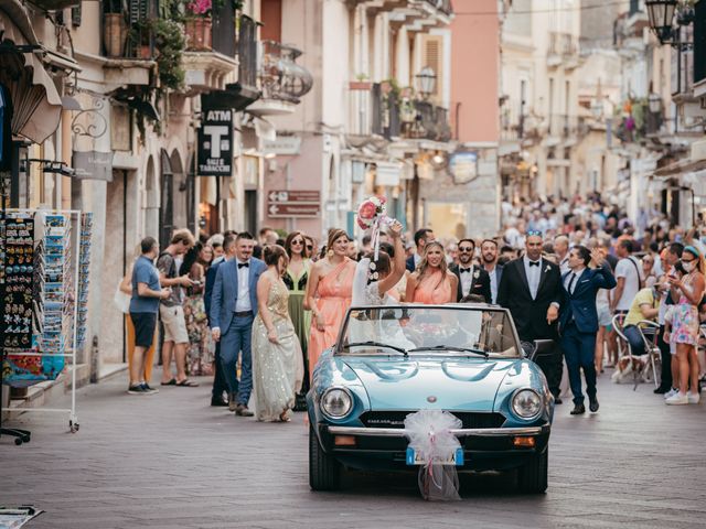
[[[313,77],[297,64],[301,52],[275,41],[263,41],[258,72],[263,95],[248,110],[257,116],[287,115],[311,90]]]

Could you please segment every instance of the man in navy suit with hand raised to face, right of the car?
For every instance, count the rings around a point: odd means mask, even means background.
[[[587,268],[591,259],[597,267],[595,269]],[[600,289],[616,287],[616,278],[609,267],[603,267],[603,261],[598,248],[589,251],[585,246],[576,246],[569,252],[570,271],[561,277],[564,302],[559,315],[559,334],[574,393],[573,415],[586,413],[581,392],[581,368],[586,377],[589,409],[592,412],[598,411],[593,360],[598,332],[596,294]]]

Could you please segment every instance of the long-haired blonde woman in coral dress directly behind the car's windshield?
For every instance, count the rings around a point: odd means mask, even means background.
[[[449,272],[440,242],[430,241],[417,270],[407,279],[405,299],[410,303],[443,304],[456,301],[458,278]]]

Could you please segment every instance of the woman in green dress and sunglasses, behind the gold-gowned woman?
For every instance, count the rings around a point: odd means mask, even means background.
[[[304,363],[304,381],[301,393],[297,395],[295,410],[306,409],[304,396],[309,391],[309,356],[307,345],[309,344],[309,330],[311,328],[311,311],[304,310],[304,292],[309,280],[309,268],[311,261],[307,253],[307,241],[304,234],[292,231],[285,241],[285,250],[289,256],[289,266],[282,277],[287,289],[289,289],[289,316],[295,325],[295,333],[301,344],[301,353]]]

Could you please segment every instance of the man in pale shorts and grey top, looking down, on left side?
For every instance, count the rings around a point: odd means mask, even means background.
[[[186,321],[182,287],[191,287],[192,280],[189,274],[178,276],[176,259],[181,260],[191,247],[194,246],[194,237],[188,229],[174,231],[172,239],[164,251],[157,260],[157,268],[160,272],[160,283],[170,287],[171,295],[160,302],[159,315],[164,326],[164,344],[162,345],[162,386],[195,387],[196,382],[186,377],[186,346],[189,345],[189,334],[186,333]],[[172,356],[176,364],[176,377],[172,377]]]

